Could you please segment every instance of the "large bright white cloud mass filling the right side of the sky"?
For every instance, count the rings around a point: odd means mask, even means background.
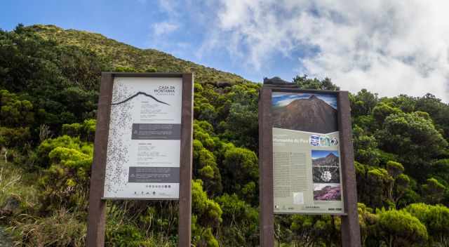
[[[314,50],[297,58],[299,71],[344,90],[449,102],[448,9],[447,0],[222,0],[201,50],[226,48],[259,71],[275,54]]]

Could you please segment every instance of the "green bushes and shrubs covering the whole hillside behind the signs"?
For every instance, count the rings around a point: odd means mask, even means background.
[[[194,72],[194,246],[259,242],[260,84],[55,26],[0,30],[0,224],[18,246],[84,246],[100,72]],[[301,88],[337,90],[296,76]],[[343,88],[344,89],[344,88]],[[350,95],[363,246],[449,245],[449,105]],[[107,246],[175,246],[175,201],[108,201]],[[341,246],[340,218],[276,215],[279,246]]]

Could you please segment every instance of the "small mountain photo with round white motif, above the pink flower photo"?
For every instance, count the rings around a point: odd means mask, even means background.
[[[311,165],[314,183],[340,182],[337,151],[311,150]]]

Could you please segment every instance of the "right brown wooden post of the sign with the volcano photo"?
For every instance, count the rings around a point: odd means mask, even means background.
[[[347,91],[337,96],[338,127],[340,131],[340,155],[342,160],[342,181],[344,208],[347,215],[342,216],[342,246],[361,246],[360,226],[357,211],[356,172],[354,168],[354,149],[352,147],[351,109]]]

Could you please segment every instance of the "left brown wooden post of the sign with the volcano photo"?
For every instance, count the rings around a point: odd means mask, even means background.
[[[260,246],[274,246],[272,90],[262,88],[259,94],[259,201]]]

